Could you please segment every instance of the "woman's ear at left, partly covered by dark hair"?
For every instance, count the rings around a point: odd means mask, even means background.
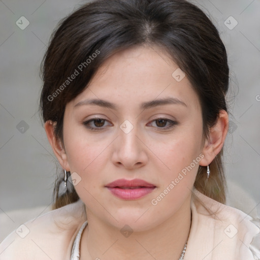
[[[70,171],[66,151],[63,148],[61,140],[56,139],[56,137],[54,135],[55,125],[56,125],[56,122],[53,122],[51,120],[46,121],[44,124],[45,132],[46,132],[47,138],[49,140],[49,143],[52,147],[52,150],[53,150],[56,158],[59,161],[59,164],[66,171]]]

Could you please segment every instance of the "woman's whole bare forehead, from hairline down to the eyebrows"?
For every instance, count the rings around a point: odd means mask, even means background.
[[[176,78],[175,72],[181,76],[180,81],[176,80],[180,77]],[[85,98],[110,100],[125,106],[170,96],[198,106],[196,92],[181,73],[169,54],[158,47],[139,46],[119,51],[105,60],[73,105]]]

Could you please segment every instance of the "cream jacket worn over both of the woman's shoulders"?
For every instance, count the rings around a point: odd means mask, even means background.
[[[192,222],[184,260],[260,259],[259,220],[220,204],[194,189]],[[216,214],[209,214],[202,203]],[[70,259],[74,239],[86,221],[82,201],[50,211],[13,231],[0,244],[1,260]],[[113,259],[111,259],[113,260]]]

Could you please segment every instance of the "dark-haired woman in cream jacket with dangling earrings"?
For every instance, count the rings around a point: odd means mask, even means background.
[[[224,205],[229,67],[199,8],[86,4],[59,24],[42,72],[64,173],[54,210],[9,235],[3,259],[259,259],[256,222]]]

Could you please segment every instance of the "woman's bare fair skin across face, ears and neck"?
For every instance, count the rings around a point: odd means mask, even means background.
[[[108,58],[88,88],[67,104],[64,143],[54,137],[53,123],[45,123],[61,167],[81,177],[75,188],[88,219],[81,259],[179,259],[189,235],[191,190],[199,165],[208,166],[221,150],[228,132],[228,114],[220,111],[209,140],[204,140],[199,98],[187,77],[180,82],[173,78],[176,69],[177,64],[158,47],[120,51]],[[186,106],[139,108],[142,102],[169,96]],[[115,103],[118,109],[75,107],[92,98]],[[93,131],[83,124],[94,117],[107,120],[90,122],[101,130]],[[177,124],[164,130],[171,123],[158,122],[158,118]],[[127,134],[120,128],[125,120],[134,127]],[[151,200],[200,154],[204,158],[163,200],[152,205]],[[140,178],[156,188],[141,199],[125,201],[105,187],[120,178]],[[127,238],[120,232],[126,224],[133,231]]]

